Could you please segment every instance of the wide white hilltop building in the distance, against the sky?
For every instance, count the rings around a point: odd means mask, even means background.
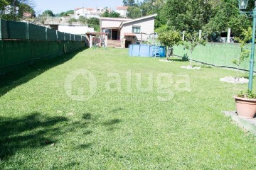
[[[85,18],[100,18],[100,15],[105,11],[112,11],[112,8],[76,8],[75,14],[71,17],[78,19],[80,16]]]

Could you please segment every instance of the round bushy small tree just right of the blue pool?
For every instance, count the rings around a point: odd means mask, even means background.
[[[174,45],[181,43],[181,34],[176,30],[169,30],[159,33],[160,42],[166,46],[167,57],[171,57],[174,52]]]

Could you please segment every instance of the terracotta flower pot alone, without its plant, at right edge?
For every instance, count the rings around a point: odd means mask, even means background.
[[[234,96],[235,106],[238,115],[241,118],[254,118],[256,113],[256,99],[240,98]]]

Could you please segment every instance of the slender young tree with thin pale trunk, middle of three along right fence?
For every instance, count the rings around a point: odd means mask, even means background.
[[[192,32],[192,33],[186,33],[186,41],[184,42],[184,45],[186,49],[189,50],[190,54],[190,67],[192,68],[192,54],[193,50],[198,45],[206,45],[206,40],[203,40],[202,38],[199,38],[198,33]]]

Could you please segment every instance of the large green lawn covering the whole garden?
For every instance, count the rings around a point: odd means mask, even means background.
[[[221,113],[235,110],[233,95],[247,89],[218,81],[234,71],[127,53],[88,49],[1,77],[0,169],[255,169],[256,137]],[[65,91],[81,69],[97,81],[88,101]],[[111,73],[121,91],[107,91],[118,87]],[[174,82],[159,93],[163,73]],[[140,91],[138,74],[143,87],[153,75],[153,89]],[[71,91],[88,96],[89,84],[80,75]],[[170,101],[159,101],[166,92]]]

